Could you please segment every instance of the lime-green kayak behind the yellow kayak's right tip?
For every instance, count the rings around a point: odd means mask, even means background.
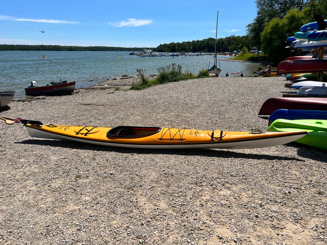
[[[327,120],[277,119],[272,122],[268,130],[268,132],[295,132],[295,131],[307,131],[308,134],[300,139],[295,140],[294,142],[306,144],[322,150],[327,150]]]

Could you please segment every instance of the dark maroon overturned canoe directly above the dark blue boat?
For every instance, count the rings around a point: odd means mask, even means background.
[[[261,106],[259,115],[270,115],[278,109],[327,111],[327,98],[276,97],[270,98]]]

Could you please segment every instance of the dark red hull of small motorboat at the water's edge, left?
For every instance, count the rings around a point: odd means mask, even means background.
[[[55,83],[52,85],[26,88],[25,93],[28,95],[52,95],[52,94],[69,94],[75,89],[75,82]]]

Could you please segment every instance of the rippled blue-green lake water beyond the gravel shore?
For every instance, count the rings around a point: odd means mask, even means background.
[[[47,57],[40,59],[38,57]],[[195,54],[194,54],[195,55]],[[118,57],[123,56],[123,57]],[[226,59],[229,57],[218,57]],[[147,75],[158,74],[157,68],[180,64],[183,72],[197,75],[214,63],[213,56],[138,57],[129,52],[69,52],[69,51],[0,51],[0,90],[15,90],[15,97],[25,96],[24,88],[36,81],[39,86],[57,82],[76,81],[76,88],[92,86],[98,82],[122,75],[136,75],[143,69]],[[243,71],[253,76],[262,64],[219,61],[221,75]]]

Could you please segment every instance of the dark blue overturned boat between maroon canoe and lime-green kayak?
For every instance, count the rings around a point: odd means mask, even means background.
[[[268,125],[276,119],[323,119],[327,120],[327,111],[278,109],[269,116]]]

